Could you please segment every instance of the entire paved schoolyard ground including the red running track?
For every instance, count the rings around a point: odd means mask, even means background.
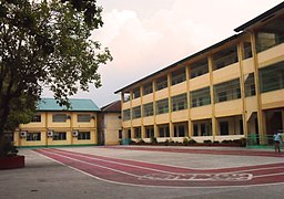
[[[243,148],[21,149],[0,198],[283,198],[284,155]],[[55,160],[55,161],[54,161]]]

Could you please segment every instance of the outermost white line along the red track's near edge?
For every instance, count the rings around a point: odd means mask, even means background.
[[[189,188],[190,188],[190,189],[223,189],[223,188],[248,188],[248,187],[265,187],[265,186],[284,185],[284,182],[275,182],[275,184],[260,184],[260,185],[254,184],[254,185],[237,185],[237,186],[234,186],[234,185],[232,186],[232,185],[230,185],[230,186],[204,186],[204,187],[183,186],[183,187],[182,187],[182,186],[149,186],[149,185],[126,184],[126,182],[111,181],[111,180],[106,180],[106,179],[100,178],[100,177],[98,177],[98,176],[93,176],[93,175],[91,175],[91,174],[89,174],[89,172],[85,172],[85,171],[80,170],[80,169],[78,169],[78,168],[74,168],[74,167],[72,167],[72,166],[68,166],[68,165],[65,165],[65,164],[63,164],[63,163],[60,163],[60,161],[58,161],[58,160],[55,160],[55,159],[52,159],[52,158],[50,158],[50,157],[48,157],[48,156],[45,156],[45,155],[43,155],[43,154],[40,154],[40,153],[38,153],[38,151],[34,151],[34,150],[32,150],[32,151],[33,151],[33,153],[37,153],[38,155],[40,155],[40,156],[42,156],[42,157],[45,157],[45,158],[52,160],[52,161],[55,161],[55,163],[58,163],[59,165],[65,166],[65,167],[68,167],[68,168],[71,168],[71,169],[73,169],[73,170],[77,170],[77,171],[79,171],[79,172],[81,172],[81,174],[84,174],[84,175],[87,175],[87,176],[89,176],[89,177],[91,177],[91,178],[94,178],[94,179],[98,179],[98,180],[101,180],[101,181],[104,181],[104,182],[121,185],[121,186],[148,187],[148,188],[165,188],[165,189],[189,189]]]

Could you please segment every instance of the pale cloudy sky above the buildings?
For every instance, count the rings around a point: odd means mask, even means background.
[[[91,39],[108,46],[113,61],[99,67],[102,86],[75,98],[102,107],[115,91],[233,34],[235,28],[283,0],[97,0],[103,27]],[[44,96],[50,96],[44,92]]]

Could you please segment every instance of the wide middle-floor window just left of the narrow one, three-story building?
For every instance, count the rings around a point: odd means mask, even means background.
[[[214,85],[215,103],[241,98],[240,80]]]

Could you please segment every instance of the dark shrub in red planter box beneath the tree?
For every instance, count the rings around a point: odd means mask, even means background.
[[[13,169],[24,167],[24,156],[18,155],[13,143],[2,139],[0,142],[0,169]]]

